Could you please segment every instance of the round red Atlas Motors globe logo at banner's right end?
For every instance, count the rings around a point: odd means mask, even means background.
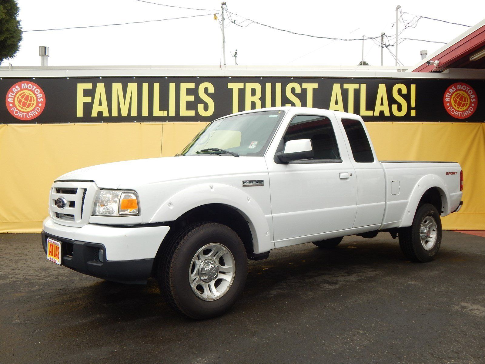
[[[477,94],[468,83],[453,83],[445,92],[443,104],[451,116],[466,119],[477,109]]]

